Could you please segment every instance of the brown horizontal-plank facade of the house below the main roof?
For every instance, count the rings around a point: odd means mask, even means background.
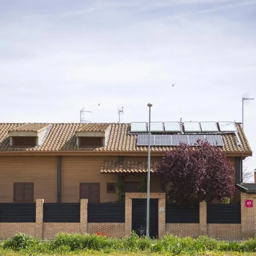
[[[36,198],[44,198],[45,203],[57,202],[57,158],[57,156],[43,155],[0,156],[0,202],[14,202],[15,183],[33,184],[34,201]],[[146,161],[147,157],[125,156],[124,159]],[[153,159],[160,160],[160,157],[153,156]],[[235,165],[235,157],[228,159]],[[86,183],[99,183],[99,200],[97,201],[116,201],[117,189],[116,193],[108,191],[107,184],[115,184],[119,174],[101,174],[103,160],[116,161],[118,156],[61,156],[60,201],[62,203],[79,202],[81,184]],[[130,184],[140,183],[142,175],[146,174],[122,174],[123,181]],[[160,177],[151,175],[151,192],[163,192]]]

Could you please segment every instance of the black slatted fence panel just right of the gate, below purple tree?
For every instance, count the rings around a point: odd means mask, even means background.
[[[166,204],[166,223],[199,223],[199,204],[194,207]]]

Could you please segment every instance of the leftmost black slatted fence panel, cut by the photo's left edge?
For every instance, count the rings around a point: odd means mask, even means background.
[[[35,203],[0,203],[0,222],[35,222]]]

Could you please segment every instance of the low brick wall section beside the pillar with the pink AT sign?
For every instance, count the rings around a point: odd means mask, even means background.
[[[207,236],[215,239],[241,240],[241,224],[207,224]]]

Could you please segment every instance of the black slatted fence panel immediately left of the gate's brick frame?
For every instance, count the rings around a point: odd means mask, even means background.
[[[125,222],[124,203],[88,203],[88,222]]]

